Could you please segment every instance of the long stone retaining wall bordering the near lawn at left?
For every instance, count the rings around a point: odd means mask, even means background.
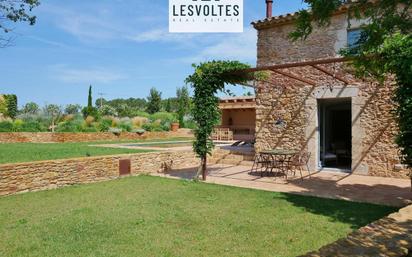
[[[192,151],[124,154],[0,165],[0,196],[53,189],[120,177],[120,161],[130,160],[130,174],[196,167]]]

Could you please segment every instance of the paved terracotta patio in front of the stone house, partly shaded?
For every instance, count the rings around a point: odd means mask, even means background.
[[[261,177],[249,174],[251,167],[217,164],[208,167],[207,183],[252,188],[273,192],[311,195],[402,207],[412,203],[411,184],[408,179],[353,175],[343,172],[322,171],[291,177]],[[196,168],[156,174],[169,178],[189,179]]]

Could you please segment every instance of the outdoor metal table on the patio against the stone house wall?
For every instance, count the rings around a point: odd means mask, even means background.
[[[265,171],[273,172],[276,169],[277,172],[281,172],[287,178],[287,172],[290,168],[291,159],[297,155],[299,151],[292,149],[271,149],[264,150],[258,153],[260,160],[265,161]],[[261,176],[263,176],[263,170],[261,171]]]

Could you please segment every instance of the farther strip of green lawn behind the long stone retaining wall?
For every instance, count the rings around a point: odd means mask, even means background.
[[[66,159],[86,156],[100,156],[112,154],[127,154],[147,152],[133,149],[91,147],[93,144],[125,143],[125,142],[160,142],[177,141],[182,138],[135,140],[135,141],[109,141],[109,142],[87,142],[87,143],[10,143],[0,144],[0,164],[18,163],[29,161],[43,161]],[[187,138],[185,140],[188,140]]]

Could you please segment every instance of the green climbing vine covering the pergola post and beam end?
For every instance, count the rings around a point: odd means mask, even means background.
[[[196,178],[202,173],[206,179],[207,155],[214,148],[210,138],[213,129],[219,123],[219,98],[216,93],[223,92],[227,84],[244,84],[255,79],[256,74],[241,72],[250,68],[238,61],[211,61],[193,65],[195,71],[186,79],[186,83],[194,88],[193,118],[197,124],[193,149],[201,159]]]

